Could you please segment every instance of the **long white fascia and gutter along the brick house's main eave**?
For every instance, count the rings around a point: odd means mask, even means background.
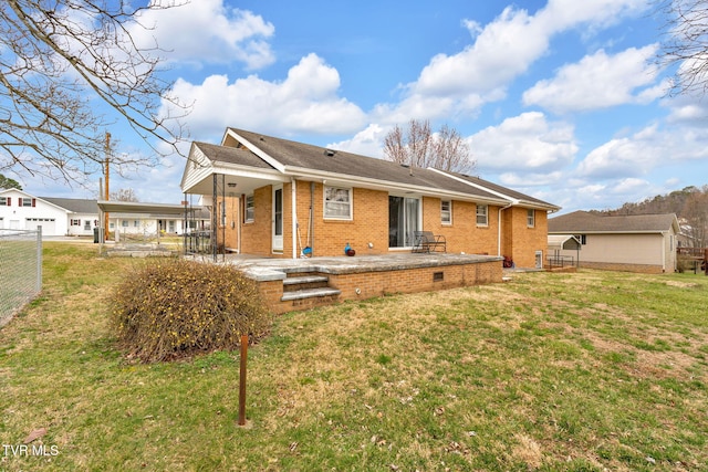
[[[441,190],[430,187],[406,186],[404,183],[393,182],[391,180],[369,179],[366,177],[356,177],[346,174],[333,174],[320,170],[313,170],[302,167],[285,167],[285,174],[295,176],[304,180],[332,180],[333,182],[346,183],[350,187],[374,188],[386,191],[412,192],[426,197],[436,197],[442,199],[451,199],[458,201],[475,201],[489,204],[507,204],[507,200],[497,200],[492,198],[475,197],[468,193],[460,193],[449,190]]]

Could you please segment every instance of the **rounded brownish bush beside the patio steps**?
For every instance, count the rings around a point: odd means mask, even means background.
[[[252,343],[272,322],[256,282],[227,265],[179,259],[138,269],[108,303],[122,347],[143,361],[232,350],[241,334]]]

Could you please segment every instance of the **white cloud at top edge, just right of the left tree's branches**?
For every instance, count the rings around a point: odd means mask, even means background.
[[[155,3],[153,1],[152,3]],[[275,28],[260,15],[228,8],[223,0],[190,1],[179,7],[147,10],[132,35],[142,48],[155,43],[168,61],[230,63],[256,70],[274,61],[266,41]]]

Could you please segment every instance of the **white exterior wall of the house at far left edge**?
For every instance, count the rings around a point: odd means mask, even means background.
[[[34,230],[42,227],[43,235],[64,235],[67,233],[67,211],[21,190],[8,190],[0,193],[10,198],[10,206],[0,206],[0,228]],[[34,199],[34,207],[20,207],[20,199]]]

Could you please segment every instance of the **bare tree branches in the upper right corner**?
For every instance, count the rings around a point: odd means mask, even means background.
[[[678,66],[673,92],[705,95],[708,91],[708,1],[656,2],[658,10],[667,19],[659,62]]]

